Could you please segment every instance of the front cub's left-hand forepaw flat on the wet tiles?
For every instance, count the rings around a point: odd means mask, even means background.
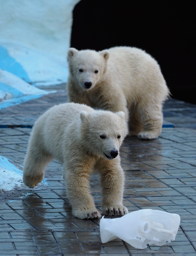
[[[78,219],[96,219],[101,218],[101,214],[97,208],[86,209],[85,207],[82,210],[73,210],[73,215]]]

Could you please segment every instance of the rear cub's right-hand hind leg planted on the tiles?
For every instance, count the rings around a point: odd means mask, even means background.
[[[138,106],[138,113],[143,126],[138,138],[156,139],[161,134],[163,125],[162,105]]]

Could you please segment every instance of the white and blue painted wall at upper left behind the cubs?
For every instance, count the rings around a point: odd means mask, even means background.
[[[0,69],[35,85],[66,82],[72,11],[78,2],[0,0]]]

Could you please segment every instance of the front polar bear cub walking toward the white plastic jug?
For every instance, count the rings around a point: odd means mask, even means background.
[[[93,110],[75,103],[52,107],[36,121],[24,160],[23,182],[33,188],[42,181],[46,165],[56,158],[63,164],[63,178],[73,215],[100,218],[90,194],[89,176],[100,174],[102,212],[122,216],[124,176],[119,148],[127,134],[123,112]]]

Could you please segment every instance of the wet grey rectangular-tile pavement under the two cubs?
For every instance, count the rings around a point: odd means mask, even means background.
[[[66,100],[66,92],[58,90],[1,110],[0,155],[23,165],[28,127],[46,109]],[[0,256],[196,255],[196,105],[171,99],[164,106],[164,116],[175,128],[163,128],[155,140],[127,137],[123,142],[123,201],[129,212],[151,208],[179,214],[175,241],[143,250],[120,239],[102,244],[99,219],[72,216],[62,166],[54,160],[47,166],[45,181],[35,189],[21,184],[0,194]],[[96,174],[91,177],[91,188],[101,209]]]

